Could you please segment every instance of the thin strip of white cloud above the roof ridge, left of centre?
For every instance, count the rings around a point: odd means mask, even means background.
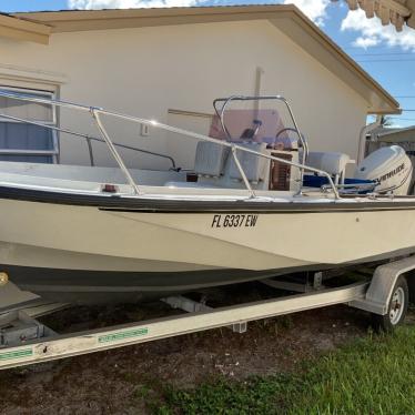
[[[69,0],[70,9],[140,9],[195,6],[198,0]]]

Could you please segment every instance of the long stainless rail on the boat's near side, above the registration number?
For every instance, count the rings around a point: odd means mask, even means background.
[[[215,144],[219,144],[219,145],[229,146],[229,148],[231,148],[232,153],[234,154],[234,158],[236,160],[237,160],[236,151],[239,150],[239,151],[243,151],[243,152],[246,152],[246,153],[255,154],[256,156],[262,156],[264,159],[274,160],[274,161],[281,162],[283,164],[292,165],[292,166],[297,168],[297,169],[303,170],[303,171],[311,171],[311,172],[321,174],[321,175],[323,175],[327,179],[328,184],[332,188],[334,198],[335,199],[341,199],[340,194],[337,192],[337,189],[336,189],[336,186],[335,186],[335,184],[332,180],[332,176],[327,172],[325,172],[323,170],[318,170],[318,169],[307,166],[307,165],[302,164],[302,163],[296,163],[296,162],[293,162],[293,161],[280,159],[280,158],[276,158],[274,155],[263,154],[263,153],[260,153],[257,151],[250,150],[250,149],[246,149],[242,145],[237,145],[237,144],[234,144],[234,143],[230,143],[230,142],[224,141],[224,140],[217,140],[217,139],[213,139],[213,138],[208,136],[208,135],[203,135],[203,134],[199,134],[199,133],[195,133],[195,132],[179,129],[176,126],[162,124],[162,123],[159,123],[154,120],[145,120],[145,119],[138,118],[138,117],[125,115],[125,114],[118,113],[118,112],[105,111],[102,108],[98,108],[98,107],[88,107],[88,105],[75,104],[73,102],[50,100],[50,99],[44,99],[44,98],[36,98],[36,97],[24,95],[24,94],[20,94],[20,93],[4,92],[4,91],[1,91],[1,90],[0,90],[0,97],[7,97],[7,98],[11,98],[11,99],[28,101],[28,102],[38,102],[38,103],[44,103],[44,104],[54,105],[54,107],[70,108],[70,109],[75,109],[75,110],[89,112],[91,114],[93,121],[95,122],[95,125],[97,125],[103,141],[107,143],[112,156],[114,158],[115,162],[118,163],[121,171],[125,175],[125,179],[130,183],[134,193],[138,194],[138,195],[142,195],[143,192],[140,190],[138,184],[134,182],[134,179],[130,174],[130,172],[129,172],[128,168],[125,166],[122,158],[118,153],[113,142],[111,141],[110,136],[108,135],[107,130],[105,130],[105,128],[104,128],[104,125],[102,124],[102,121],[101,121],[101,114],[109,115],[109,117],[114,117],[114,118],[118,118],[118,119],[121,119],[121,120],[136,122],[139,124],[146,124],[146,125],[156,126],[156,128],[160,128],[162,130],[170,131],[170,132],[181,134],[181,135],[185,135],[185,136],[190,136],[190,138],[193,138],[193,139],[196,139],[196,140],[209,141],[209,142],[212,142],[212,143],[215,143]],[[280,95],[275,95],[275,97],[282,98]],[[48,128],[50,125],[43,125],[43,126]],[[236,165],[237,165],[237,168],[241,172],[243,181],[244,181],[244,183],[246,185],[246,189],[250,193],[250,199],[251,198],[256,198],[253,189],[250,185],[250,182],[246,178],[246,174],[244,173],[244,171],[243,171],[241,164],[239,163],[239,161],[237,161]]]

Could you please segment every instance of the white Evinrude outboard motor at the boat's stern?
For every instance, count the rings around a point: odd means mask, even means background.
[[[377,193],[404,195],[412,181],[412,162],[405,150],[398,145],[381,148],[371,153],[357,166],[355,179],[378,182]]]

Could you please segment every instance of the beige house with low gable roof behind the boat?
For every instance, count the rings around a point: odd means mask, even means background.
[[[0,49],[1,89],[205,134],[215,98],[282,94],[312,150],[355,158],[366,117],[399,113],[398,102],[294,6],[0,16]],[[0,112],[98,134],[89,114],[12,101],[2,98]],[[118,142],[171,154],[178,165],[192,168],[194,141],[105,121]],[[93,145],[97,164],[114,165],[103,144]],[[0,152],[3,160],[90,163],[85,140],[10,120],[0,123]],[[129,153],[126,163],[169,166],[141,153]]]

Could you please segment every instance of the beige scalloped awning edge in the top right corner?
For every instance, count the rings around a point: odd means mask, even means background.
[[[338,0],[332,0],[338,1]],[[406,23],[415,28],[415,0],[345,0],[351,10],[363,9],[367,19],[377,17],[382,24],[393,24],[398,32]]]

